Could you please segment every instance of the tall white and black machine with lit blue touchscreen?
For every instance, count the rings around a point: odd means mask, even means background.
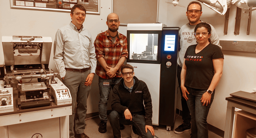
[[[149,89],[153,125],[174,126],[176,114],[176,69],[179,27],[161,23],[127,24],[129,57],[135,76]]]

